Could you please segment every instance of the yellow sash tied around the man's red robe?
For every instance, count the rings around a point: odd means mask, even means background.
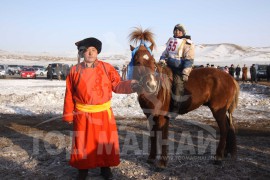
[[[107,110],[109,118],[111,119],[112,112],[111,112],[111,101],[108,101],[104,104],[98,104],[98,105],[89,105],[89,104],[81,104],[76,102],[76,108],[83,112],[101,112]]]

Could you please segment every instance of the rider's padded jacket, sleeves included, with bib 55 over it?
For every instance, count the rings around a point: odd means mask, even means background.
[[[160,59],[193,60],[194,44],[190,39],[171,37],[166,43],[166,49]]]

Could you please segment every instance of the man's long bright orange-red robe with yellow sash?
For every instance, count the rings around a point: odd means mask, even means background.
[[[110,107],[112,92],[132,93],[131,81],[121,81],[108,63],[73,66],[66,80],[63,120],[73,122],[70,165],[78,169],[117,166],[119,142]]]

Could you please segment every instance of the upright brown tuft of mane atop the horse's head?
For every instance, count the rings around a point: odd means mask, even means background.
[[[135,42],[137,44],[138,41],[148,41],[152,43],[153,47],[156,46],[154,41],[154,33],[152,33],[149,29],[143,29],[141,27],[134,27],[134,31],[129,35],[130,43]]]

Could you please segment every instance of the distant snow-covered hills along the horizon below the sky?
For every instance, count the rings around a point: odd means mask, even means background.
[[[165,45],[157,47],[153,53],[156,60],[165,49]],[[1,61],[42,61],[47,62],[73,62],[77,61],[77,52],[65,53],[28,53],[28,52],[8,52],[0,50]],[[110,61],[130,60],[130,50],[124,51],[122,54],[108,54],[102,52],[100,59]],[[18,63],[17,62],[17,63]],[[199,44],[195,46],[195,63],[194,64],[252,64],[252,63],[270,63],[270,47],[247,47],[236,44]]]

